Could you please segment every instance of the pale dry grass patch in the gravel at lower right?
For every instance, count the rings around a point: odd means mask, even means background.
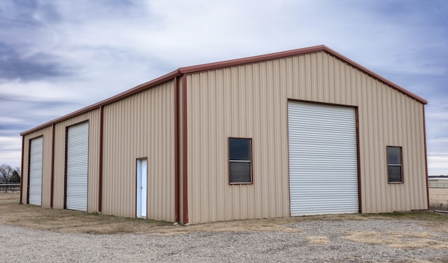
[[[430,239],[428,232],[346,232],[344,239],[367,244],[385,244],[390,248],[448,248],[448,243]]]

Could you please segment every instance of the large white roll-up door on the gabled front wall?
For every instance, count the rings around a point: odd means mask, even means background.
[[[356,109],[288,103],[290,213],[358,213]]]

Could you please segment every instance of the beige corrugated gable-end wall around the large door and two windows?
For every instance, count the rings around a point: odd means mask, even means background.
[[[288,99],[358,106],[363,213],[426,208],[423,105],[326,52],[188,76],[190,222],[290,215]],[[228,137],[253,138],[253,184],[228,184]],[[386,145],[404,183],[388,184]]]

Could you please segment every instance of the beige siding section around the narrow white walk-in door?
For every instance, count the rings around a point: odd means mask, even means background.
[[[104,106],[102,211],[136,215],[136,160],[148,158],[148,218],[174,221],[174,81]]]

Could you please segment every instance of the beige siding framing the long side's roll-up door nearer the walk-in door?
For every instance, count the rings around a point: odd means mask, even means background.
[[[64,208],[66,127],[88,120],[89,168],[87,178],[87,212],[98,211],[99,183],[99,109],[78,115],[55,124],[55,186],[54,208]]]

